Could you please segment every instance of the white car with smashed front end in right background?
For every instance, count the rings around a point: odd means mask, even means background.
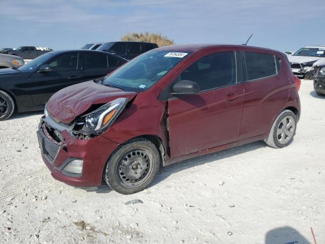
[[[310,79],[319,66],[325,65],[325,46],[307,46],[288,56],[291,70],[301,79]]]

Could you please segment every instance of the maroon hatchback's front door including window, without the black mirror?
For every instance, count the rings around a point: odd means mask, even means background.
[[[238,140],[243,84],[237,79],[234,49],[223,50],[185,67],[172,83],[191,80],[201,89],[168,101],[172,158]]]

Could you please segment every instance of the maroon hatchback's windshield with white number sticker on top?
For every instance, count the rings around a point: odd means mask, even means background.
[[[190,53],[149,51],[107,76],[103,84],[144,91],[154,85]]]

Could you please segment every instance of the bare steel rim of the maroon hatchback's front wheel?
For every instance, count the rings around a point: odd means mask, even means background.
[[[116,168],[117,179],[124,187],[138,187],[150,177],[153,161],[153,155],[146,148],[133,148],[120,158]]]

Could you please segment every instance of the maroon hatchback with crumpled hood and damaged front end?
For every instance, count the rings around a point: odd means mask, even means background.
[[[298,85],[282,52],[240,45],[148,51],[110,75],[54,94],[41,119],[42,158],[55,179],[147,188],[159,167],[264,140],[290,144]]]

